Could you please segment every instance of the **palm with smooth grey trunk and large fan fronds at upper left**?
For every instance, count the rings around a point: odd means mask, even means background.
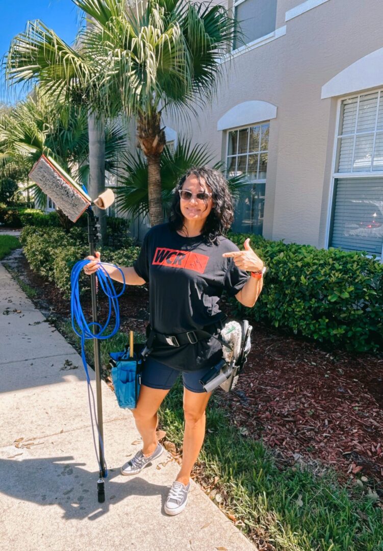
[[[57,101],[58,105],[83,106],[89,111],[89,193],[98,197],[105,189],[105,145],[94,150],[100,139],[102,142],[105,138],[95,84],[99,68],[80,41],[77,40],[77,47],[72,48],[42,21],[28,21],[24,33],[14,37],[4,56],[3,72],[9,85],[23,83],[28,87],[38,83],[42,93],[51,101]],[[101,234],[105,237],[105,213],[99,209],[96,211],[100,217]]]

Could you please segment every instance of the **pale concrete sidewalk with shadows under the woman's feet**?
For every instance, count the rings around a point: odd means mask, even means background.
[[[81,358],[1,263],[0,334],[0,549],[256,551],[193,480],[185,511],[165,514],[179,472],[168,452],[136,476],[120,475],[141,449],[140,436],[131,411],[118,408],[104,383],[109,476],[98,503]]]

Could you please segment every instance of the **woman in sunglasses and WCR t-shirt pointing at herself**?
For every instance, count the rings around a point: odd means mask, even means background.
[[[147,356],[137,407],[132,410],[143,449],[121,467],[137,474],[164,451],[156,439],[158,408],[182,372],[185,431],[181,470],[172,484],[165,512],[185,509],[190,475],[201,450],[212,392],[199,380],[222,358],[213,336],[197,339],[193,329],[217,334],[222,325],[222,291],[251,307],[262,290],[263,262],[246,239],[244,251],[223,234],[233,222],[233,204],[221,172],[203,166],[189,170],[175,188],[169,222],[150,228],[133,267],[121,268],[128,285],[149,286],[150,326],[156,344]],[[87,257],[87,274],[98,269],[100,253]],[[105,266],[112,279],[121,274]],[[250,274],[247,273],[250,272]]]

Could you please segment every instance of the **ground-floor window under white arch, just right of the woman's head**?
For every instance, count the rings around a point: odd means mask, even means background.
[[[267,171],[269,122],[228,132],[227,176],[245,175],[240,199],[234,205],[233,231],[262,234]]]

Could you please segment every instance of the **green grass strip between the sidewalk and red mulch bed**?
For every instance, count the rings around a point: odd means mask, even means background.
[[[72,332],[70,323],[61,329]],[[73,342],[76,338],[72,332]],[[135,334],[135,342],[143,340]],[[109,351],[121,350],[125,343],[121,333],[101,341],[101,362],[107,365]],[[93,343],[86,344],[93,363]],[[158,428],[177,452],[184,431],[182,388],[179,378],[159,409]],[[214,393],[206,415],[206,437],[193,478],[260,551],[383,550],[383,511],[376,493],[360,481],[341,485],[329,470],[318,476],[298,464],[284,467],[262,441],[230,423]]]

